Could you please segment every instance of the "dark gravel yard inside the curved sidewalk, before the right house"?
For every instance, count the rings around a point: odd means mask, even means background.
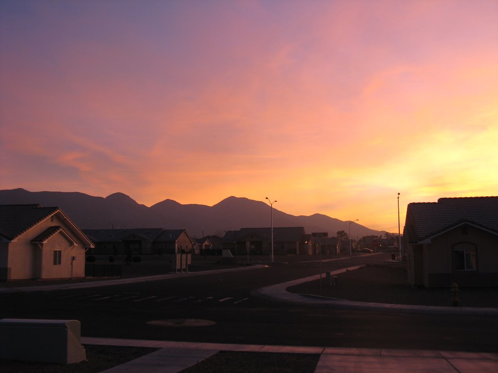
[[[336,286],[320,280],[287,288],[294,293],[322,295],[360,302],[453,306],[450,288],[412,287],[406,283],[406,266],[395,264],[365,266],[338,275]],[[498,307],[498,288],[460,288],[462,307]]]

